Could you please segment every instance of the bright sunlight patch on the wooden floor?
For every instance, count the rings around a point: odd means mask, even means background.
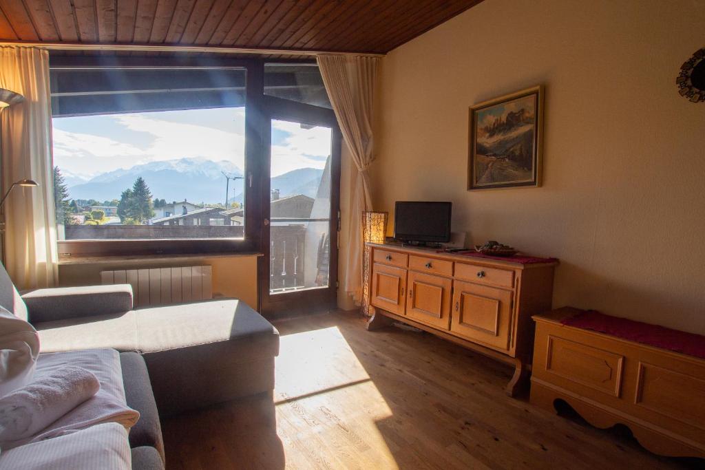
[[[286,468],[398,468],[376,426],[391,409],[337,327],[281,337],[274,401]]]

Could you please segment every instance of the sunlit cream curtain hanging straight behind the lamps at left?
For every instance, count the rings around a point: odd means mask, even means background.
[[[51,157],[49,54],[34,47],[0,47],[0,87],[25,97],[1,112],[0,173],[5,202],[5,266],[20,289],[56,285],[54,172]]]

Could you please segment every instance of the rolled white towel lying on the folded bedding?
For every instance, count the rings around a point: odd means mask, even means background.
[[[0,398],[0,447],[31,438],[99,389],[91,372],[66,366],[5,395]]]

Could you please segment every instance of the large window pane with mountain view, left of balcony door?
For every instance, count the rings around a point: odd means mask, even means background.
[[[246,73],[52,67],[59,239],[243,238]]]

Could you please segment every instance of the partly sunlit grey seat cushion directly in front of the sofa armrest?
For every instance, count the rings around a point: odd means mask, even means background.
[[[78,319],[35,323],[42,352],[90,350],[109,347],[137,351],[135,311]]]

